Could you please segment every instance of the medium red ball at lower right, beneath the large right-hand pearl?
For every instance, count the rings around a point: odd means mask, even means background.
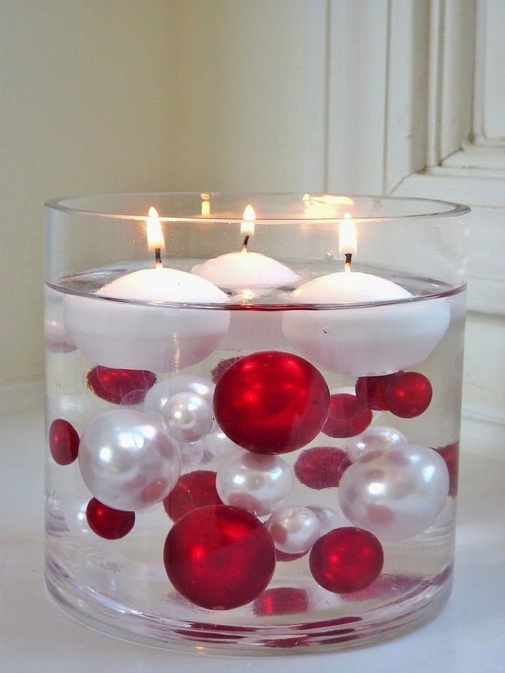
[[[375,535],[362,528],[335,528],[318,539],[309,556],[314,580],[327,591],[351,593],[371,585],[384,565]]]

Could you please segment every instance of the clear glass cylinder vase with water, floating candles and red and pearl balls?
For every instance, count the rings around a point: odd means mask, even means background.
[[[46,577],[64,609],[233,654],[434,617],[453,568],[468,213],[48,202]]]

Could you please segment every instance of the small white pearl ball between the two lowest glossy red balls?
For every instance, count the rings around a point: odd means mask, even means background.
[[[266,523],[275,547],[285,554],[303,554],[318,540],[320,523],[308,507],[288,505],[276,510]]]

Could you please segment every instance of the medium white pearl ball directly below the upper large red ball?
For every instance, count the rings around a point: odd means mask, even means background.
[[[215,486],[224,504],[264,517],[290,496],[294,474],[279,456],[242,451],[218,470]]]

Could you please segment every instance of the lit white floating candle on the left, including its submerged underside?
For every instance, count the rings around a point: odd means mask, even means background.
[[[158,233],[153,236],[150,229],[156,224]],[[121,276],[99,288],[96,297],[67,295],[64,299],[65,327],[78,349],[95,364],[177,371],[201,362],[228,330],[228,311],[128,303],[202,304],[228,299],[205,279],[163,268],[163,235],[154,209],[148,217],[148,237],[156,268]]]

